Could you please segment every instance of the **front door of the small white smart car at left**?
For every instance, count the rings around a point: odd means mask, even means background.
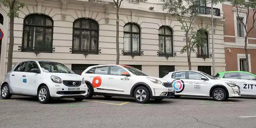
[[[38,69],[39,66],[35,61],[28,61],[27,67],[25,69],[25,76],[26,83],[24,84],[25,93],[29,94],[36,94],[37,93],[37,87],[40,82],[40,73],[32,73],[32,69]]]

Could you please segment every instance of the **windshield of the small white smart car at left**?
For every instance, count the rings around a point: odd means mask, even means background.
[[[70,68],[68,68],[66,65],[58,63],[58,62],[52,62],[52,61],[38,61],[40,66],[42,67],[42,70],[44,72],[49,73],[71,73],[74,74]]]

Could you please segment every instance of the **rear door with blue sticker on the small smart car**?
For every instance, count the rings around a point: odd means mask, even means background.
[[[10,74],[10,82],[12,90],[17,93],[24,93],[24,85],[26,78],[24,78],[27,61],[21,62],[17,65],[15,70]]]

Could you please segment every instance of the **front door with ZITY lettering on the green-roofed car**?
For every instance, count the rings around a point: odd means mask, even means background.
[[[239,73],[242,89],[244,90],[243,95],[256,96],[256,79],[255,76],[249,73]]]

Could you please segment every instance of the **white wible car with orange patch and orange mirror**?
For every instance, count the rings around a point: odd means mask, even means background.
[[[126,65],[103,64],[90,66],[81,73],[88,85],[89,94],[134,97],[138,103],[150,99],[161,101],[172,96],[172,84],[164,79],[148,76],[141,70]]]

